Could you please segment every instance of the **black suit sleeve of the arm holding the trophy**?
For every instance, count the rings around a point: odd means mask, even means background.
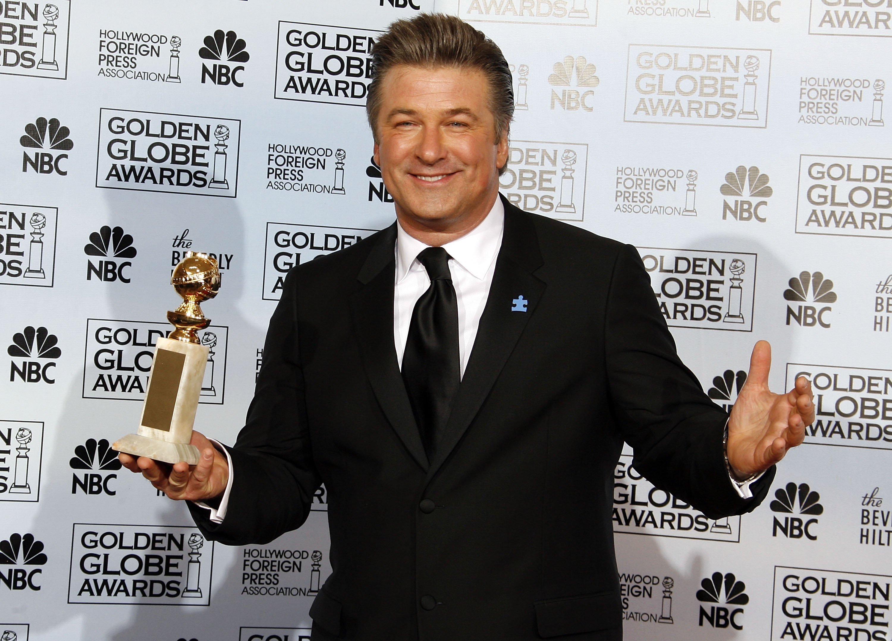
[[[244,428],[227,448],[235,476],[226,518],[189,505],[207,538],[230,546],[268,543],[307,520],[322,484],[313,464],[298,341],[296,270],[269,321],[263,366]]]

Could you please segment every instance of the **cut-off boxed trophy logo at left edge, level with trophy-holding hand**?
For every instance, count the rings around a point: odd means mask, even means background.
[[[0,501],[40,499],[43,445],[44,423],[0,420]]]

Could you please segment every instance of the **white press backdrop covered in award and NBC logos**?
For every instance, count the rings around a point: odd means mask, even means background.
[[[309,634],[324,493],[268,546],[214,545],[108,443],[136,426],[188,249],[224,273],[196,427],[235,440],[280,277],[392,222],[368,49],[431,10],[513,67],[512,201],[639,247],[717,403],[759,338],[775,390],[803,373],[819,395],[742,518],[706,520],[623,457],[626,637],[888,639],[890,0],[4,0],[4,641]]]

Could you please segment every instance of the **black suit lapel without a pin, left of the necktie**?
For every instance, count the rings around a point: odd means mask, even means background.
[[[393,248],[396,225],[388,227],[381,235],[381,240],[369,251],[357,276],[361,285],[351,299],[353,327],[368,382],[384,415],[409,454],[426,470],[425,448],[418,434],[393,346],[393,283],[396,270]]]

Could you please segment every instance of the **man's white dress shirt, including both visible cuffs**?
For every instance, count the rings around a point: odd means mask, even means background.
[[[474,347],[480,316],[483,316],[483,308],[490,295],[492,275],[495,273],[496,257],[499,255],[504,230],[505,208],[501,199],[496,198],[490,213],[486,218],[483,218],[478,226],[461,238],[447,242],[442,246],[451,257],[449,270],[458,300],[458,357],[461,361],[460,375],[462,376],[465,375],[467,359]],[[406,339],[409,336],[412,310],[415,309],[415,303],[431,283],[427,270],[417,260],[418,254],[427,246],[424,242],[410,236],[397,223],[396,247],[394,248],[396,273],[393,291],[393,345],[396,348],[397,362],[401,367],[403,352],[406,350]],[[227,456],[229,480],[226,491],[223,492],[220,505],[216,509],[203,503],[196,505],[211,510],[212,522],[222,523],[227,512],[229,490],[232,488],[235,470],[232,468],[232,459],[226,448],[217,441],[213,441],[213,443]],[[729,478],[731,478],[731,486],[740,497],[753,496],[749,485],[755,482],[758,477],[745,482],[735,481],[729,470]]]

